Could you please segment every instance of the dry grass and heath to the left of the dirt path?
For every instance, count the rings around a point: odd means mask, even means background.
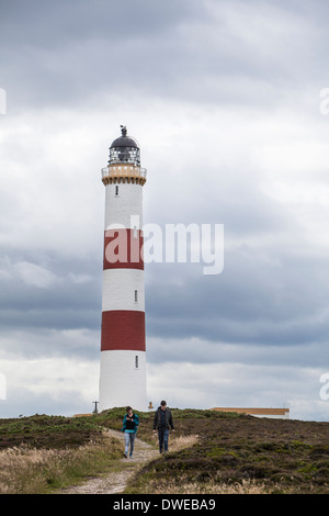
[[[122,446],[90,417],[0,419],[0,493],[43,494],[110,471]]]

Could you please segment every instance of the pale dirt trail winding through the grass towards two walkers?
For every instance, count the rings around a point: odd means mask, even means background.
[[[122,440],[123,450],[124,450],[124,434],[121,431],[109,429],[109,434],[117,439]],[[86,481],[83,484],[72,485],[61,490],[61,494],[120,494],[122,493],[131,476],[138,470],[138,468],[159,457],[159,451],[152,448],[147,442],[141,441],[136,437],[134,456],[132,459],[123,459],[120,461],[122,463],[122,470],[115,471],[106,474],[105,476],[98,476]]]

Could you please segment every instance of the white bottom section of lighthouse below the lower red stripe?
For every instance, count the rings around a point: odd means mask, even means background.
[[[131,349],[102,351],[100,411],[127,405],[147,411],[146,352]]]

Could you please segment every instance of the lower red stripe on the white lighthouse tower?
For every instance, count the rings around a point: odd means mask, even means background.
[[[145,351],[145,312],[112,310],[102,313],[101,351]]]

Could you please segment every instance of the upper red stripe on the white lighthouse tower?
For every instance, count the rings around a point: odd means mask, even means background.
[[[105,231],[103,269],[144,269],[143,243],[140,229]]]

